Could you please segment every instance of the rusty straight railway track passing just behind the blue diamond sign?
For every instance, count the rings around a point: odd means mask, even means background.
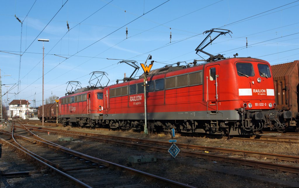
[[[170,143],[152,140],[115,137],[92,133],[56,130],[50,128],[35,128],[33,126],[27,127],[30,130],[39,132],[51,132],[81,139],[112,143],[115,145],[128,146],[156,152],[167,152],[170,146]],[[291,172],[296,174],[299,173],[298,156],[277,155],[271,153],[213,148],[179,143],[177,143],[176,145],[181,149],[181,152],[179,153],[179,155],[181,156],[203,158],[207,160],[222,161],[228,163],[237,163],[239,165],[253,166],[256,168],[271,169],[282,172]]]

